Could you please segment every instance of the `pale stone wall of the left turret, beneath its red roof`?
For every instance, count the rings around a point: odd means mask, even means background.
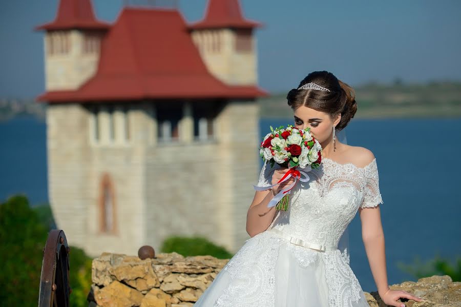
[[[99,62],[98,35],[85,38],[80,30],[45,34],[45,88],[47,91],[75,90],[92,77]],[[87,42],[86,42],[87,40]]]

